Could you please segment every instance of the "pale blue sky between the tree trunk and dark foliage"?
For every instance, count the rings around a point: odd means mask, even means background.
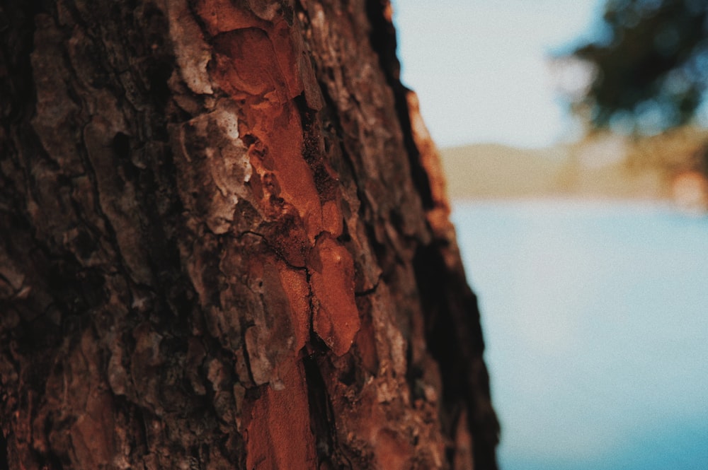
[[[602,0],[394,0],[402,80],[440,147],[573,139],[549,54],[591,37]],[[433,5],[433,6],[431,6]]]

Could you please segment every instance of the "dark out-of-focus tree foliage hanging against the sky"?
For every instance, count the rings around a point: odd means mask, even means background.
[[[576,109],[639,134],[690,122],[707,89],[708,0],[608,0],[603,23],[570,54],[595,69]]]

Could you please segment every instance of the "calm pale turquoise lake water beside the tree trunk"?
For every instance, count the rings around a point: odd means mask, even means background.
[[[458,203],[503,470],[708,469],[708,218]]]

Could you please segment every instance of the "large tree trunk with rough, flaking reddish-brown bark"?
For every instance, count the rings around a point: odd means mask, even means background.
[[[0,39],[0,468],[496,468],[387,1],[11,0]]]

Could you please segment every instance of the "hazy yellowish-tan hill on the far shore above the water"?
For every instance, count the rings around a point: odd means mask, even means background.
[[[452,199],[666,196],[660,171],[630,170],[621,148],[603,142],[540,149],[474,144],[442,148],[440,154]]]

